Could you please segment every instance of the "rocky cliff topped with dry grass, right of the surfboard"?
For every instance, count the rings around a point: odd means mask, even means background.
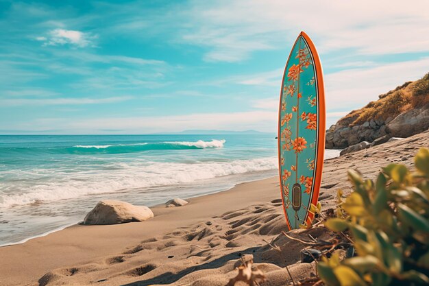
[[[326,130],[326,148],[345,148],[363,141],[374,145],[428,130],[429,73],[378,97]]]

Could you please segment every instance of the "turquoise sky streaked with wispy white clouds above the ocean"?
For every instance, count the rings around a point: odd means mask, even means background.
[[[275,132],[300,31],[327,128],[429,71],[429,1],[3,1],[0,134]]]

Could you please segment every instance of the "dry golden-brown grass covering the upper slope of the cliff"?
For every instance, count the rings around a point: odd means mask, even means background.
[[[386,120],[396,117],[402,112],[418,108],[429,103],[429,73],[415,82],[406,82],[379,96],[375,102],[353,110],[343,117],[339,123],[343,126],[355,126],[371,119]]]

